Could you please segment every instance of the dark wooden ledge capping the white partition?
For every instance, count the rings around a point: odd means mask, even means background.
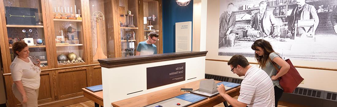
[[[98,62],[101,67],[112,68],[135,64],[145,64],[168,60],[177,60],[184,58],[202,57],[206,56],[208,51],[185,51],[185,52],[174,52],[166,54],[154,54],[145,56],[132,56],[132,57],[121,57],[121,58],[109,58],[109,59],[99,59]]]

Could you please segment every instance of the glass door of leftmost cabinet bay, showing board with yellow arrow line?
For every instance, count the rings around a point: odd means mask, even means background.
[[[24,41],[30,56],[40,59],[41,67],[48,66],[43,14],[40,0],[3,0],[11,61],[16,55],[12,44]]]

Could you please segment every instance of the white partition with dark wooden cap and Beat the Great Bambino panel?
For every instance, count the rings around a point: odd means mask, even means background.
[[[207,51],[99,59],[103,105],[205,78]]]

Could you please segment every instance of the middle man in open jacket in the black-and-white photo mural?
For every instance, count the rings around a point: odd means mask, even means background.
[[[266,11],[267,2],[261,1],[259,3],[259,12],[252,15],[252,20],[250,20],[250,27],[254,30],[261,31],[261,35],[269,36],[273,34],[273,27],[277,25],[277,21],[272,12]]]

